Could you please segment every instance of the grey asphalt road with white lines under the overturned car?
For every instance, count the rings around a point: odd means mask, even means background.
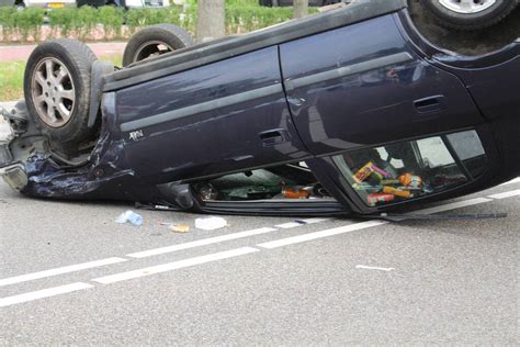
[[[137,227],[114,223],[126,204],[1,182],[0,345],[517,345],[520,180],[440,205],[508,216],[225,216],[210,232],[200,215],[136,211]]]

